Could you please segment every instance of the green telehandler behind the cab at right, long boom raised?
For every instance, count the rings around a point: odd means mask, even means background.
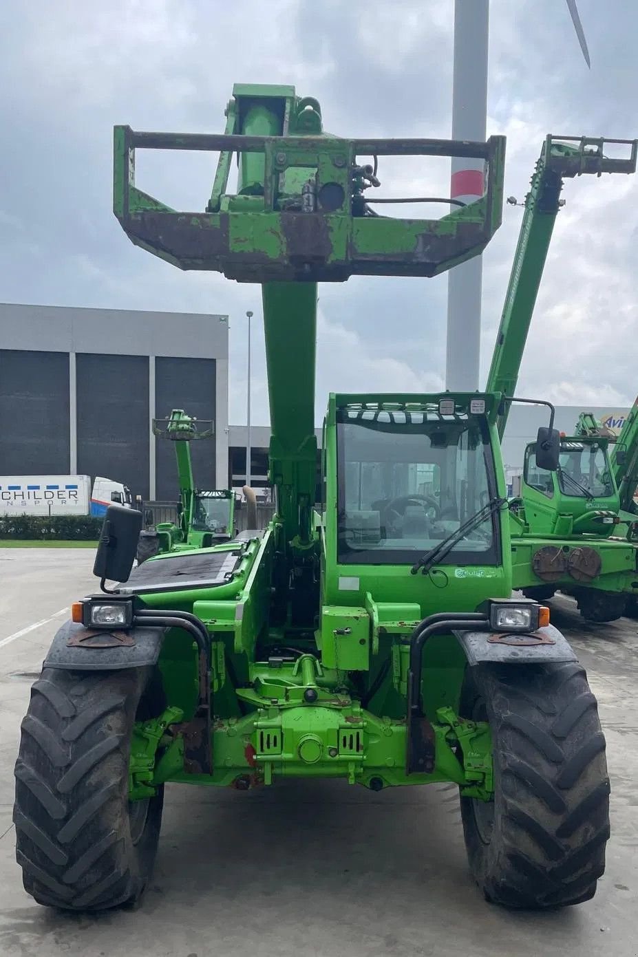
[[[627,149],[626,159],[608,158],[610,145]],[[486,389],[513,395],[536,295],[558,211],[563,179],[583,173],[633,173],[638,141],[548,136],[526,196]],[[515,200],[511,200],[515,202]],[[547,405],[547,403],[545,403]],[[498,411],[503,436],[511,402]],[[556,590],[573,595],[584,618],[620,617],[637,582],[638,550],[615,534],[622,521],[617,470],[609,437],[599,430],[560,436],[558,468],[538,464],[536,444],[525,450],[520,493],[510,502],[513,588],[545,601]]]

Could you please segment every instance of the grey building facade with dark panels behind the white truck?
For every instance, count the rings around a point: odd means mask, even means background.
[[[175,500],[170,441],[154,418],[215,422],[195,478],[228,476],[228,323],[196,313],[0,304],[0,474],[78,474]]]

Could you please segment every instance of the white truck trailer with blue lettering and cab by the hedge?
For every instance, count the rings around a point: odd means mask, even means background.
[[[101,516],[113,502],[130,508],[130,491],[101,476],[0,476],[0,515]]]

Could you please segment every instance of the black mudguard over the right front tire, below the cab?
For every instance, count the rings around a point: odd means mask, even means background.
[[[455,631],[467,664],[482,661],[505,664],[536,664],[546,661],[577,661],[578,658],[558,628],[548,625],[534,634],[493,634]]]

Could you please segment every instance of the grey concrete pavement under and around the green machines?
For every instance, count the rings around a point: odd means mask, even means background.
[[[94,918],[35,904],[14,860],[19,724],[64,620],[56,612],[96,588],[93,557],[0,548],[2,957],[636,957],[638,622],[587,626],[567,599],[552,603],[552,620],[599,698],[612,780],[612,838],[594,901],[545,914],[483,901],[451,786],[373,793],[301,781],[249,792],[169,786],[137,911]]]

